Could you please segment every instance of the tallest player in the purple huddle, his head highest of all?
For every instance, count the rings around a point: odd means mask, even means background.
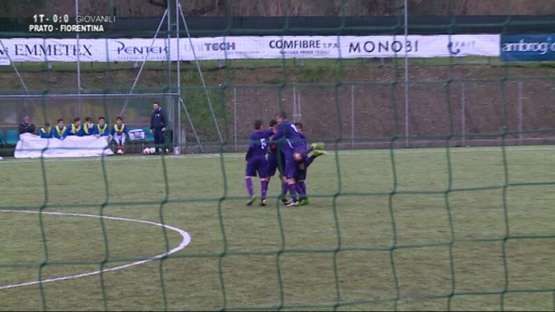
[[[280,112],[276,115],[280,127],[274,135],[273,141],[278,144],[278,148],[282,151],[285,159],[284,177],[287,179],[287,188],[291,194],[291,201],[287,202],[287,207],[298,206],[297,187],[295,176],[297,171],[297,162],[295,155],[300,155],[302,150],[302,139],[293,123],[287,120],[287,114]]]

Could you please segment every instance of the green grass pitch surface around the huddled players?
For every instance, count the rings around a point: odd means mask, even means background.
[[[549,146],[343,151],[311,165],[311,205],[296,208],[278,202],[277,180],[271,205],[244,206],[243,154],[7,159],[1,210],[163,221],[192,240],[163,261],[0,289],[0,310],[554,310],[554,159]],[[180,241],[152,225],[0,212],[0,287]]]

